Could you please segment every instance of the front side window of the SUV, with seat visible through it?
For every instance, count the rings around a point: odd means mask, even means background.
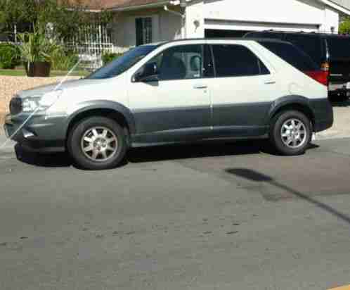
[[[151,64],[157,68],[158,80],[187,80],[202,77],[202,45],[182,45],[166,49],[152,58],[145,67]]]

